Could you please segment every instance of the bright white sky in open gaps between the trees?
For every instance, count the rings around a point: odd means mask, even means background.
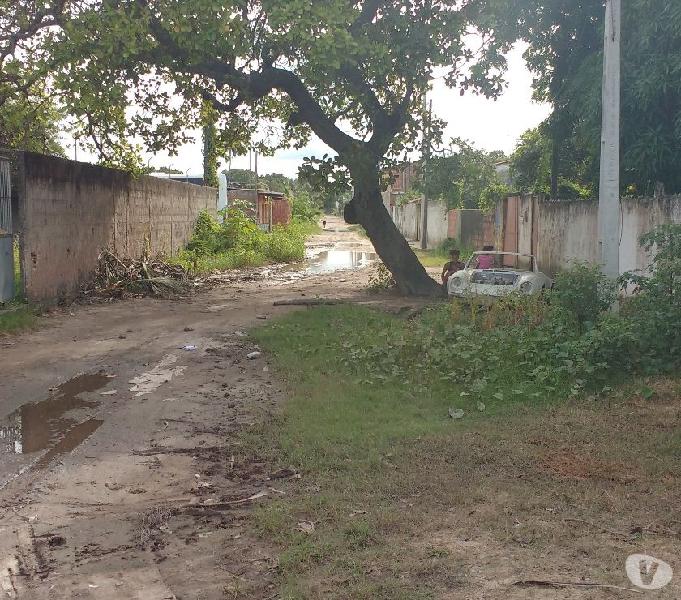
[[[548,116],[548,105],[532,101],[532,74],[527,69],[522,53],[523,47],[520,45],[509,53],[506,73],[508,87],[496,101],[471,93],[460,96],[459,90],[450,90],[442,81],[435,80],[429,98],[433,101],[435,116],[448,123],[445,141],[452,137],[461,137],[484,150],[503,150],[510,153],[524,131],[535,127]],[[73,142],[64,140],[64,143],[67,146],[67,155],[73,158]],[[263,175],[283,173],[288,177],[296,177],[305,156],[322,156],[326,152],[330,152],[327,146],[313,138],[301,150],[280,150],[271,157],[260,156],[258,172]],[[171,166],[183,173],[200,175],[203,170],[200,135],[197,134],[194,143],[180,148],[177,156],[169,157],[158,153],[145,154],[144,158],[152,167]],[[94,162],[95,157],[79,150],[78,160]],[[224,166],[226,164],[222,164],[220,169]],[[247,169],[249,157],[236,157],[231,166],[235,169]]]

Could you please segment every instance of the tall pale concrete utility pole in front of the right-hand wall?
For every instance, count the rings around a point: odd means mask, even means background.
[[[619,277],[620,247],[620,41],[622,0],[607,0],[603,46],[603,127],[598,198],[599,251],[603,272]]]

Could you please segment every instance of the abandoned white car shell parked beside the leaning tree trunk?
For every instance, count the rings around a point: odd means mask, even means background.
[[[532,295],[551,289],[553,281],[537,267],[537,259],[515,252],[475,252],[463,271],[447,280],[447,293],[458,298]]]

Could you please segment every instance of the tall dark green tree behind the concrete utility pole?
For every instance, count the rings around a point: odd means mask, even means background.
[[[549,191],[561,195],[562,179],[595,193],[604,1],[514,0],[499,8],[509,38],[529,44],[535,97],[554,107],[536,132],[550,144]],[[630,0],[622,22],[623,191],[651,193],[658,182],[681,191],[680,162],[681,4]]]

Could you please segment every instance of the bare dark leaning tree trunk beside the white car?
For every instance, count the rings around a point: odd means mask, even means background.
[[[359,172],[358,172],[359,171]],[[378,168],[351,169],[355,193],[345,220],[364,227],[397,287],[408,296],[442,296],[444,290],[426,273],[383,204]]]

